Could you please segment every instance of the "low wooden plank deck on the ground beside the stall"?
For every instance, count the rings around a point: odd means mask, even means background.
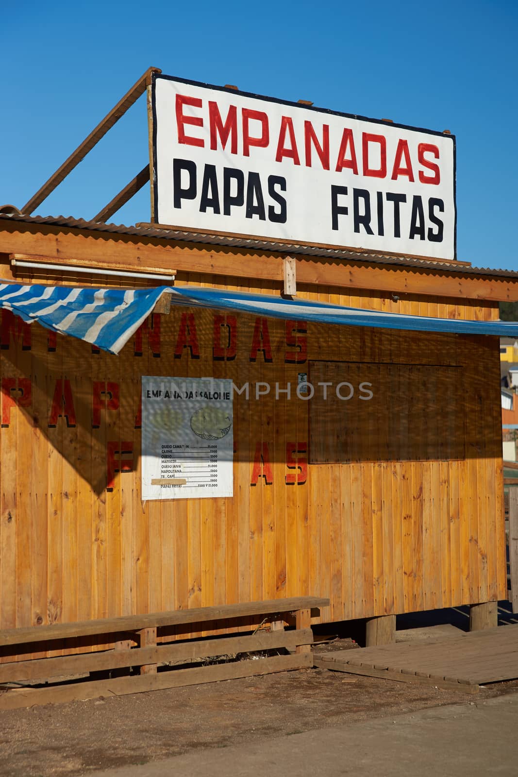
[[[315,653],[315,666],[476,693],[518,678],[518,624],[447,639]]]

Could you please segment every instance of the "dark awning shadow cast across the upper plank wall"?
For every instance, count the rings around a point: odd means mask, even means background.
[[[501,455],[499,406],[482,384],[465,390],[463,368],[331,361],[329,343],[313,352],[323,361],[307,358],[304,322],[270,322],[266,341],[266,319],[244,316],[240,351],[235,317],[197,311],[194,325],[186,312],[155,315],[116,357],[2,314],[4,450],[33,474],[55,466],[58,451],[98,496],[118,473],[139,472],[143,375],[234,383],[229,434],[251,486],[272,483],[275,464],[284,465],[283,483],[297,486],[311,465]],[[336,329],[344,328],[326,328],[328,340]]]

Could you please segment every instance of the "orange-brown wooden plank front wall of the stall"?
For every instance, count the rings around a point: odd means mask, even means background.
[[[176,283],[211,280],[179,274]],[[218,280],[238,291],[280,289],[278,281]],[[395,302],[314,286],[298,294],[419,315],[498,315],[494,303],[461,299]],[[0,628],[303,594],[331,598],[323,622],[506,596],[495,338],[304,322],[287,329],[239,315],[237,354],[221,361],[215,315],[172,308],[120,357],[4,317]],[[230,319],[216,319],[221,344]],[[141,375],[290,381],[294,392],[309,361],[459,368],[465,458],[308,465],[308,402],[276,400],[273,391],[235,398],[232,499],[141,501]],[[419,401],[419,382],[407,389]],[[441,416],[441,403],[427,412]],[[367,427],[376,440],[372,419]]]

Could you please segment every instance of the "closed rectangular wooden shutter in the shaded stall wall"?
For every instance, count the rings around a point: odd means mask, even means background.
[[[308,379],[310,464],[465,458],[461,368],[311,361]]]

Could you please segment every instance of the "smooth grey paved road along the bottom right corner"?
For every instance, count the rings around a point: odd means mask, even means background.
[[[90,777],[478,777],[518,775],[518,693],[191,751]]]

